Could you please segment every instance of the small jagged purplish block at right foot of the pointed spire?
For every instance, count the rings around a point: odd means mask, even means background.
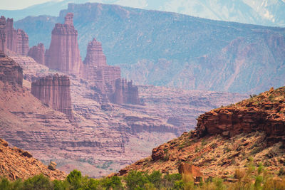
[[[138,87],[133,85],[133,81],[127,82],[125,79],[115,81],[115,93],[111,102],[116,104],[130,103],[140,104],[138,97]]]

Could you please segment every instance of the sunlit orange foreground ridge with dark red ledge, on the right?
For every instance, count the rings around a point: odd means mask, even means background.
[[[121,169],[177,173],[182,163],[199,167],[204,177],[224,179],[237,169],[264,164],[276,175],[285,163],[285,87],[251,95],[235,105],[220,107],[198,117],[194,131],[152,149],[151,157]]]

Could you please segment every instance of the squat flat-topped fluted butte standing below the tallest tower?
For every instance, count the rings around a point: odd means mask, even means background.
[[[31,83],[31,93],[54,110],[65,113],[69,120],[74,120],[70,85],[66,75],[46,76]]]

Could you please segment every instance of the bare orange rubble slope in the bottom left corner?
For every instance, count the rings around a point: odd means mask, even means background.
[[[38,174],[48,176],[51,180],[66,178],[63,171],[48,169],[29,152],[17,147],[11,148],[6,141],[0,139],[0,176],[15,180],[27,179]]]

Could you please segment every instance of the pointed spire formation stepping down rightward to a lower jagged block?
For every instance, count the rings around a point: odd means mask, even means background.
[[[139,104],[138,88],[133,86],[133,82],[121,79],[120,68],[110,66],[106,63],[106,58],[100,42],[93,38],[87,46],[86,58],[81,71],[83,78],[91,81],[100,93],[105,94],[110,102],[116,104],[130,103]]]

